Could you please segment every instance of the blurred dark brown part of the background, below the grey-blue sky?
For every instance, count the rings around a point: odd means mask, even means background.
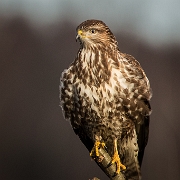
[[[79,48],[76,26],[64,21],[35,28],[21,16],[0,21],[0,179],[108,179],[59,107],[59,77]],[[178,180],[180,44],[154,47],[126,32],[115,35],[153,89],[143,179]]]

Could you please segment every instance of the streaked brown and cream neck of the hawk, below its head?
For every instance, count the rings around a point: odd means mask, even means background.
[[[118,66],[118,51],[112,47],[82,48],[76,63],[81,67],[79,73],[87,74],[94,82],[101,83],[110,78],[112,66]]]

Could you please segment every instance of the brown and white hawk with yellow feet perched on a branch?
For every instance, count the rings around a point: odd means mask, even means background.
[[[140,63],[118,47],[101,20],[76,28],[80,48],[60,78],[60,105],[90,156],[105,149],[128,180],[141,179],[152,90]]]

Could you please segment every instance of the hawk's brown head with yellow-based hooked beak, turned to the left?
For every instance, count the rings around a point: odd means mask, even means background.
[[[117,45],[115,36],[106,24],[100,20],[87,20],[77,27],[76,40],[85,48]]]

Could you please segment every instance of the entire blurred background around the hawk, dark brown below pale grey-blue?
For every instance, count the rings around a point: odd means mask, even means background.
[[[143,180],[180,178],[179,0],[0,1],[0,179],[108,179],[65,121],[59,77],[76,27],[103,20],[153,89]]]

